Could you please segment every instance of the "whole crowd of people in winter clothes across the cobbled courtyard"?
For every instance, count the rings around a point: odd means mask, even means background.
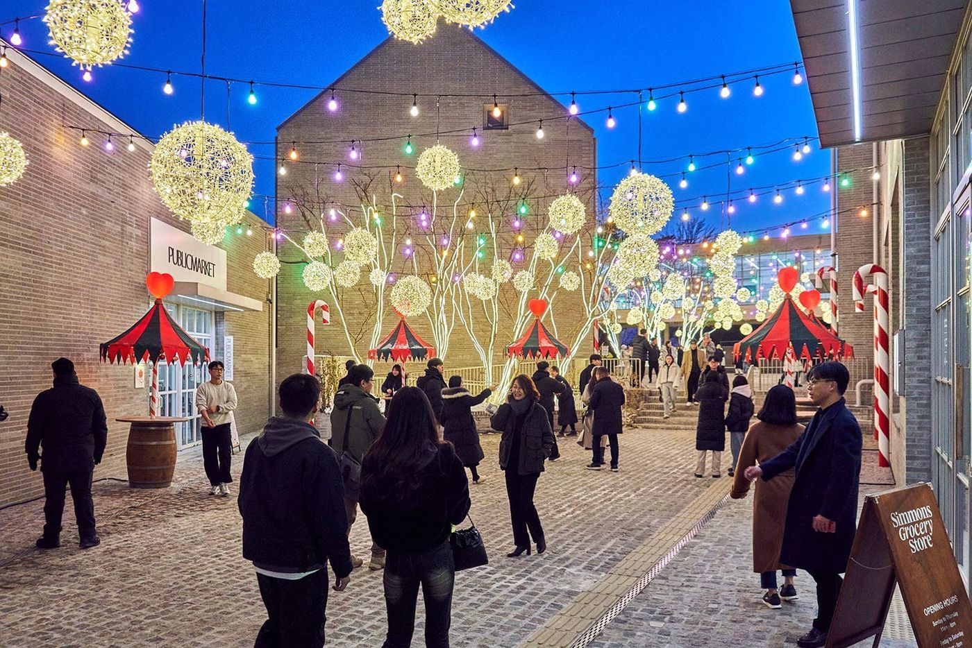
[[[642,329],[642,337],[643,337]],[[806,428],[797,423],[791,388],[771,389],[755,415],[753,393],[742,375],[730,386],[724,359],[712,340],[692,342],[679,354],[669,345],[636,340],[641,366],[664,401],[665,417],[676,409],[677,388],[698,407],[695,476],[721,477],[721,455],[729,432],[734,477],[731,495],[745,497],[755,481],[753,570],[766,590],[763,602],[780,608],[797,597],[795,569],[816,581],[818,614],[800,646],[822,646],[841,589],[855,529],[861,435],[844,403],[849,374],[835,361],[807,373],[818,407]],[[652,351],[653,350],[653,351]],[[664,351],[664,357],[662,353]],[[660,360],[660,361],[659,361]],[[203,464],[212,495],[230,494],[230,430],[237,396],[223,379],[220,361],[208,366],[210,380],[196,391],[202,419]],[[482,484],[486,460],[472,409],[497,390],[469,392],[463,379],[445,379],[444,363],[432,358],[415,386],[395,365],[377,393],[374,371],[349,361],[333,397],[330,428],[312,422],[320,412],[321,381],[295,374],[279,388],[279,416],[269,419],[243,460],[238,507],[243,520],[243,556],[256,571],[266,621],[258,646],[321,646],[329,587],[342,592],[364,559],[351,553],[349,537],[358,512],[371,537],[367,568],[384,570],[388,631],[384,645],[409,646],[421,587],[429,646],[447,646],[456,565],[450,537],[469,515],[469,478]],[[41,461],[45,485],[44,533],[37,547],[59,546],[65,489],[71,486],[80,546],[99,543],[91,499],[91,476],[107,440],[104,408],[97,392],[80,384],[69,359],[52,363],[53,388],[38,395],[25,443],[32,470]],[[637,376],[643,381],[643,376]],[[501,433],[512,549],[517,559],[547,549],[535,503],[546,461],[557,460],[557,438],[577,436],[591,451],[585,467],[619,470],[624,381],[592,354],[577,386],[557,366],[537,364],[532,375],[512,379],[499,407],[488,407],[489,426]],[[559,407],[555,406],[555,398]],[[379,406],[384,401],[384,407]],[[726,404],[728,403],[728,412]],[[559,409],[555,433],[555,411]],[[384,410],[384,411],[383,411]],[[570,431],[568,431],[570,427]],[[43,458],[41,449],[43,448]],[[711,454],[711,458],[710,458]],[[327,573],[333,571],[333,584]],[[783,586],[778,588],[777,572]]]

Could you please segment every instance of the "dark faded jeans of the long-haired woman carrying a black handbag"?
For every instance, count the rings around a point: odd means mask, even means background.
[[[408,648],[412,644],[419,585],[426,608],[425,644],[447,648],[455,580],[456,565],[448,542],[419,554],[389,551],[384,575],[388,610],[385,648]]]

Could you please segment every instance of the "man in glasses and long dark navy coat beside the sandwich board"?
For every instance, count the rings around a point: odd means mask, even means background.
[[[746,468],[746,479],[764,481],[796,468],[780,562],[806,569],[816,581],[814,627],[797,641],[804,648],[827,641],[856,530],[861,433],[844,401],[850,380],[840,362],[816,364],[807,391],[819,409],[810,425],[779,456]]]

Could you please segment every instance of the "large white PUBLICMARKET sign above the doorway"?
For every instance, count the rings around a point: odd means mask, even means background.
[[[153,272],[167,272],[177,282],[205,284],[226,290],[226,251],[192,238],[189,232],[152,219]]]

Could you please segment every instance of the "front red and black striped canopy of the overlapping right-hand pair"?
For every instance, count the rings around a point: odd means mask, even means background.
[[[850,344],[803,313],[789,295],[777,312],[733,347],[735,358],[782,359],[793,345],[797,358],[853,358]]]

